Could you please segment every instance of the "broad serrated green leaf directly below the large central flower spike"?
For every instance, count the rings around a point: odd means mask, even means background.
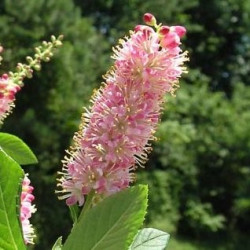
[[[128,249],[143,223],[147,196],[148,187],[139,185],[106,198],[80,218],[63,250]]]

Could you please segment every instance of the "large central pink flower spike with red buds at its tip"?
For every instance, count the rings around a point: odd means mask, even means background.
[[[186,71],[186,53],[179,47],[185,28],[157,25],[149,13],[144,21],[155,29],[137,25],[120,40],[114,66],[83,114],[58,183],[67,205],[83,205],[90,192],[98,201],[135,180],[134,170],[151,151],[164,95],[176,90]]]

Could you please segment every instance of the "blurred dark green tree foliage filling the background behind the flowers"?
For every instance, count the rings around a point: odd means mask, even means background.
[[[139,170],[138,181],[150,186],[146,223],[199,240],[222,234],[237,242],[237,235],[249,234],[249,1],[3,0],[1,73],[51,34],[65,36],[52,62],[25,81],[3,127],[40,162],[27,169],[36,187],[37,249],[49,249],[70,230],[67,208],[54,195],[56,172],[82,106],[112,63],[112,45],[145,12],[184,25],[190,55],[177,97],[167,97],[146,171]]]

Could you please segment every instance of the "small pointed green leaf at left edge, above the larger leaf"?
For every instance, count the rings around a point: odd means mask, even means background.
[[[27,165],[38,162],[30,148],[14,135],[0,133],[0,148],[18,164]]]

